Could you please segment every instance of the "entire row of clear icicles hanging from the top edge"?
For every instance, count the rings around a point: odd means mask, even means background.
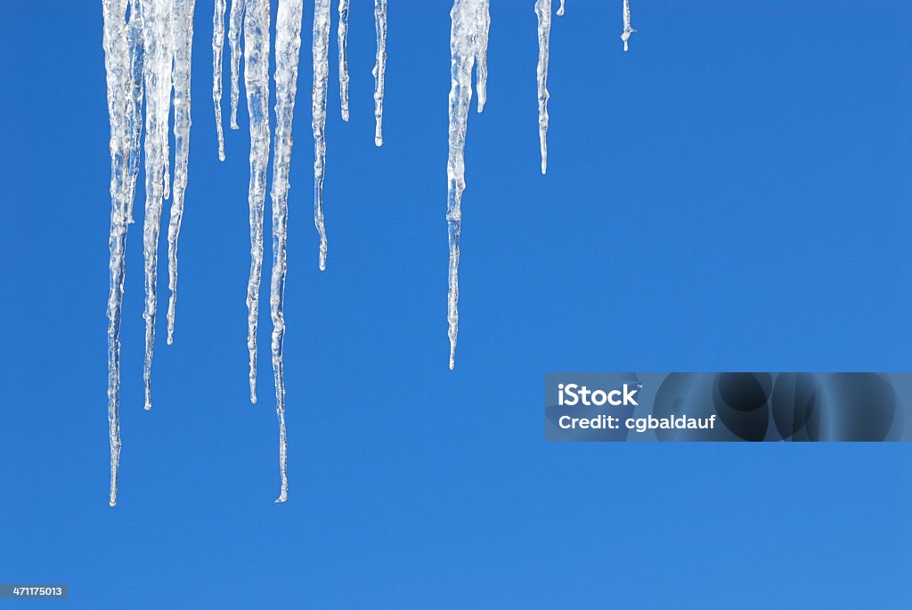
[[[273,205],[273,268],[270,281],[270,317],[273,322],[272,364],[275,376],[276,411],[279,419],[279,473],[281,490],[276,501],[288,493],[285,440],[285,378],[283,345],[285,316],[283,302],[286,274],[286,227],[289,167],[292,149],[292,118],[297,89],[297,67],[301,46],[304,0],[279,0],[275,24],[275,136],[273,139],[273,179],[270,197]],[[157,311],[158,242],[161,210],[171,198],[168,224],[168,276],[171,295],[168,303],[167,342],[174,339],[177,304],[177,246],[181,233],[184,195],[187,188],[187,161],[191,128],[191,65],[193,12],[195,0],[102,0],[104,16],[103,47],[107,70],[111,156],[110,287],[108,298],[108,419],[110,439],[109,503],[117,503],[120,431],[120,320],[123,300],[124,252],[127,231],[133,221],[133,200],[140,171],[140,145],[145,165],[146,202],[143,221],[145,272],[146,350],[143,367],[145,408],[151,408],[151,364],[155,344]],[[557,15],[563,15],[565,0],[560,0]],[[218,157],[225,159],[222,119],[223,48],[227,0],[214,0],[212,16],[212,101],[215,110]],[[326,170],[326,95],[329,74],[330,0],[314,1],[312,128],[314,133],[314,222],[319,236],[318,263],[326,268],[326,228],[323,215],[323,182]],[[548,129],[548,45],[551,31],[551,0],[535,0],[538,17],[538,109],[542,173],[547,168]],[[343,120],[348,107],[348,32],[349,0],[338,0],[339,95]],[[627,41],[635,32],[630,26],[629,0],[623,4]],[[374,141],[383,144],[383,96],[386,76],[387,0],[374,0],[377,56],[374,76]],[[461,199],[465,190],[465,138],[472,102],[472,69],[476,73],[477,108],[486,100],[488,32],[491,26],[490,0],[453,0],[451,10],[451,91],[449,112],[449,155],[447,159],[447,225],[450,243],[448,322],[450,367],[454,367],[459,330],[459,241]],[[250,357],[250,399],[256,402],[256,331],[259,319],[259,293],[263,273],[264,208],[266,168],[271,139],[269,117],[269,0],[232,0],[228,13],[228,41],[231,66],[231,129],[239,129],[237,109],[240,98],[241,41],[244,40],[244,85],[250,119],[250,207],[251,268],[247,286],[247,347]],[[174,180],[171,186],[170,127],[173,100]],[[142,109],[145,102],[145,116]],[[143,124],[145,137],[143,138]]]

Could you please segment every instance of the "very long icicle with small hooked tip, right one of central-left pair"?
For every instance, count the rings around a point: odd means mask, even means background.
[[[275,411],[279,418],[279,476],[277,502],[288,499],[287,442],[285,437],[285,245],[288,227],[288,174],[291,165],[292,119],[295,114],[297,64],[301,54],[304,0],[279,0],[275,20],[275,154],[273,156],[273,273],[269,309],[273,320],[272,352]]]

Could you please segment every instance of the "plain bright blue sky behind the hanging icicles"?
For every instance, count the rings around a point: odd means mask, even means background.
[[[306,2],[276,505],[266,311],[247,398],[246,105],[227,129],[226,79],[220,163],[197,1],[175,344],[162,232],[144,412],[140,212],[110,509],[101,7],[0,0],[0,582],[67,583],[63,605],[90,608],[912,605],[907,444],[547,444],[542,426],[545,371],[912,368],[912,4],[637,0],[625,55],[621,0],[570,0],[544,177],[533,4],[492,3],[450,371],[451,4],[389,2],[381,149],[372,3],[351,2],[347,124],[333,8],[320,273]]]

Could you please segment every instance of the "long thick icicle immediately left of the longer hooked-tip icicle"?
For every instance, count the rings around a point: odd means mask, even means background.
[[[263,213],[269,161],[269,0],[247,0],[244,11],[244,88],[250,116],[250,279],[247,282],[247,351],[250,401],[256,402],[256,325],[263,274]]]

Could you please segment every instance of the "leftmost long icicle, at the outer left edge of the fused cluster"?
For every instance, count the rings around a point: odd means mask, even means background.
[[[127,245],[130,162],[130,49],[127,43],[127,0],[103,0],[105,70],[111,156],[111,226],[108,292],[108,436],[110,442],[109,504],[117,504],[120,468],[120,315],[123,308],[124,249]],[[131,20],[135,19],[133,14]]]

